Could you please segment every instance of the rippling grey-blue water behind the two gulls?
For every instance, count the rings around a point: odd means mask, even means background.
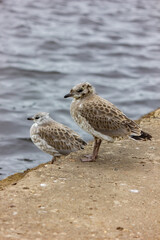
[[[63,98],[84,81],[132,119],[159,107],[159,0],[0,1],[1,179],[52,158],[29,140],[39,111],[91,139]]]

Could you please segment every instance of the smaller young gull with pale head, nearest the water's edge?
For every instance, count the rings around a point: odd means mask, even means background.
[[[51,163],[55,161],[55,157],[83,149],[87,144],[76,132],[54,121],[49,113],[39,112],[28,120],[34,121],[30,129],[33,143],[53,156]]]

